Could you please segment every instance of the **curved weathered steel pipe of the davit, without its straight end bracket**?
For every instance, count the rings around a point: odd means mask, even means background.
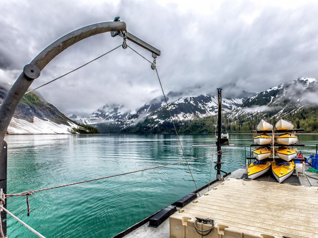
[[[103,22],[93,25],[85,26],[74,30],[65,36],[62,36],[48,47],[46,47],[38,56],[36,56],[31,64],[34,64],[38,69],[42,70],[55,56],[65,50],[67,47],[73,45],[80,40],[89,36],[100,34],[108,31],[126,30],[126,23],[121,21]],[[34,79],[27,77],[24,72],[20,74],[17,81],[13,84],[8,95],[4,99],[0,108],[0,153],[2,150],[4,136],[8,129],[11,118],[17,109],[24,93],[30,87]]]

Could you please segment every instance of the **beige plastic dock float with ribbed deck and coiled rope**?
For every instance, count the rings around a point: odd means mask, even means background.
[[[214,220],[199,235],[196,217]],[[318,238],[318,188],[227,179],[170,216],[170,238]],[[209,230],[210,223],[197,223]]]

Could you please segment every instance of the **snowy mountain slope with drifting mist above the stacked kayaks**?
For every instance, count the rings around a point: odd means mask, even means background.
[[[243,114],[250,117],[256,114],[284,117],[303,108],[317,107],[317,89],[318,81],[315,78],[298,78],[250,97],[234,109],[230,117]]]

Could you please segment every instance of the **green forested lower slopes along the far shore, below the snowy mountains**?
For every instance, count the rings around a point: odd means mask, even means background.
[[[248,116],[240,115],[234,118],[229,117],[230,114],[224,114],[222,121],[223,132],[251,132],[255,130],[260,119],[275,124],[279,118],[271,118],[272,112],[268,112],[264,117],[259,114],[250,114]],[[305,132],[318,132],[318,108],[304,108],[297,113],[289,113],[284,118],[293,122],[295,128],[304,128]],[[171,122],[164,122],[151,127],[153,121],[146,119],[133,127],[123,129],[120,133],[173,133],[174,128]],[[176,128],[179,133],[214,133],[215,125],[217,123],[217,116],[208,116],[186,121],[175,121]]]

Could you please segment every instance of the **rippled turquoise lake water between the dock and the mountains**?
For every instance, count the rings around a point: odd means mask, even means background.
[[[198,187],[209,182],[214,135],[181,135]],[[230,134],[235,147],[224,147],[222,169],[245,164],[244,146],[250,134]],[[317,135],[300,135],[315,143]],[[36,190],[184,160],[175,135],[13,135],[8,142],[8,193]],[[315,152],[315,146],[306,147]],[[230,151],[229,151],[230,150]],[[249,149],[248,149],[249,150]],[[305,150],[303,150],[305,151]],[[215,151],[214,151],[215,152]],[[213,157],[216,160],[216,156]],[[211,179],[215,179],[212,169]],[[195,190],[186,163],[118,176],[25,197],[13,197],[7,208],[42,235],[49,237],[112,237]],[[37,237],[8,217],[8,236]]]

